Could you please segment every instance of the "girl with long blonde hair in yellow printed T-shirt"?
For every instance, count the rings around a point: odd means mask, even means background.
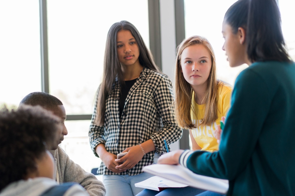
[[[189,129],[192,149],[218,150],[214,131],[230,107],[232,88],[217,80],[214,51],[206,38],[191,36],[178,46],[174,86],[177,123]],[[145,189],[139,195],[194,196],[203,191],[192,187],[169,188],[160,193]]]

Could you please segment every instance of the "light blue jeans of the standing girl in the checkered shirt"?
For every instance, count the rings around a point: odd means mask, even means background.
[[[106,187],[106,196],[132,196],[137,195],[143,188],[135,187],[134,184],[146,180],[154,175],[143,172],[138,175],[103,175],[102,182]]]

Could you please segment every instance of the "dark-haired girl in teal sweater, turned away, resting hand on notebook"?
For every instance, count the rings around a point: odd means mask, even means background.
[[[276,0],[237,1],[222,34],[230,66],[249,67],[235,81],[219,151],[177,150],[158,163],[228,179],[227,195],[295,195],[295,63]]]

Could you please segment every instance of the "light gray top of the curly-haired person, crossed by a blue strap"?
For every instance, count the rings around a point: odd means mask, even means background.
[[[0,192],[0,196],[39,196],[54,185],[57,185],[57,183],[47,177],[36,177],[29,178],[28,180],[19,180],[6,186]],[[89,195],[80,185],[73,185],[65,192],[64,196]]]

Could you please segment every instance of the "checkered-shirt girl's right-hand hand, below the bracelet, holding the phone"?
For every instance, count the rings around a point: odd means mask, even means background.
[[[128,170],[134,167],[143,157],[143,152],[139,145],[126,148],[122,153],[128,152],[127,155],[115,161],[118,163],[117,170]],[[124,162],[125,161],[125,162]],[[124,163],[122,163],[124,162]],[[122,163],[119,165],[119,163]]]

